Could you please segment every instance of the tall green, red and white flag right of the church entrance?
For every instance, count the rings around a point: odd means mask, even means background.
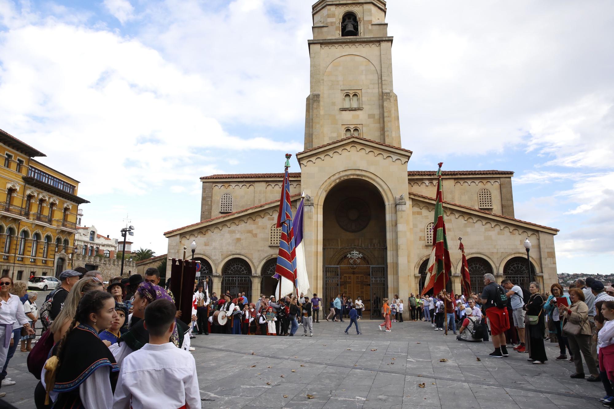
[[[448,240],[446,238],[446,224],[443,221],[443,182],[441,181],[441,165],[437,171],[437,195],[435,196],[435,220],[433,220],[433,249],[430,252],[427,266],[426,285],[422,294],[433,289],[433,294],[445,290],[452,270]]]

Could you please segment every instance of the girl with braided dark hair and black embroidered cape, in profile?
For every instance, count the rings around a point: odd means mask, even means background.
[[[104,291],[88,291],[74,319],[53,346],[43,370],[45,405],[53,408],[103,409],[113,405],[119,367],[98,332],[117,319],[115,301]]]

